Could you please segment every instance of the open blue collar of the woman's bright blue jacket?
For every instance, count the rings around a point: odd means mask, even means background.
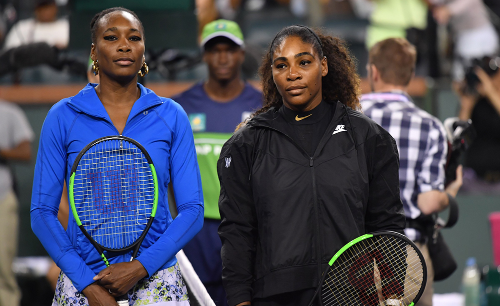
[[[78,112],[111,121],[104,105],[102,105],[97,93],[95,92],[95,86],[97,86],[97,84],[88,83],[69,100],[68,105]],[[137,83],[137,87],[140,90],[140,97],[133,103],[127,122],[136,114],[163,103],[160,97],[158,97],[152,90],[147,89],[139,83]]]

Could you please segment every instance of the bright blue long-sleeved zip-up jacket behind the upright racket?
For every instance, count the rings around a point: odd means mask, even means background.
[[[106,266],[69,214],[67,230],[57,220],[64,179],[69,182],[78,152],[92,140],[119,134],[94,87],[56,103],[48,112],[40,135],[31,196],[31,228],[57,266],[78,291],[93,283]],[[175,254],[201,229],[203,195],[196,151],[187,115],[171,99],[158,97],[137,84],[140,97],[128,115],[123,136],[144,146],[155,166],[159,200],[155,219],[135,258],[148,275],[173,266]],[[172,221],[167,185],[173,184],[178,215]],[[128,261],[131,252],[109,262]]]

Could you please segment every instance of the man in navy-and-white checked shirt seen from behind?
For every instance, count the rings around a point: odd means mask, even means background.
[[[415,106],[406,93],[414,75],[416,50],[404,38],[389,38],[369,51],[368,79],[372,93],[361,98],[363,113],[386,129],[399,151],[399,193],[406,219],[415,220],[444,210],[449,197],[455,197],[462,184],[462,169],[457,179],[444,189],[447,157],[446,132],[442,123]],[[427,285],[418,306],[431,306],[433,277],[431,260],[419,231],[406,228],[406,236],[422,252],[427,264]]]

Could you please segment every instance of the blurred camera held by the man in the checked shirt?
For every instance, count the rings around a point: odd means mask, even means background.
[[[465,151],[476,137],[472,120],[463,121],[458,117],[447,118],[444,120],[444,128],[448,138],[448,160],[445,168],[445,183],[456,179],[456,168],[462,163]]]

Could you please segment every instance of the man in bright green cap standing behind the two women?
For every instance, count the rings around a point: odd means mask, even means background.
[[[219,19],[206,24],[200,45],[208,79],[172,98],[184,108],[191,123],[205,207],[203,228],[183,250],[212,300],[225,306],[217,235],[217,159],[235,127],[262,105],[262,93],[241,78],[244,42],[236,22]]]

